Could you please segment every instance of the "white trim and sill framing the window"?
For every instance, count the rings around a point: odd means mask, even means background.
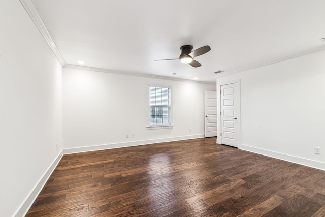
[[[169,114],[169,124],[167,125],[151,125],[150,120],[151,120],[151,105],[150,105],[150,87],[163,87],[163,88],[169,88],[170,89],[170,114]],[[168,84],[156,84],[156,83],[151,83],[148,84],[148,91],[147,91],[147,96],[148,96],[148,123],[149,125],[146,127],[147,130],[155,130],[155,129],[168,129],[168,128],[173,128],[173,87]]]

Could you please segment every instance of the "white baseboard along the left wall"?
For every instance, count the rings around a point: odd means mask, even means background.
[[[48,170],[45,172],[41,180],[38,182],[34,190],[31,191],[29,196],[26,198],[25,202],[21,205],[21,207],[18,209],[16,214],[14,216],[21,217],[25,216],[30,209],[31,205],[36,200],[37,196],[40,194],[41,190],[43,189],[45,183],[49,179],[50,175],[56,168],[57,164],[60,162],[62,158],[62,152],[57,156],[57,158],[53,161],[52,165],[48,168]]]

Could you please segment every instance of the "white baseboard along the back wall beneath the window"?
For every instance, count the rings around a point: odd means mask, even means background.
[[[77,147],[77,148],[66,148],[63,149],[62,154],[80,153],[86,151],[98,151],[98,150],[105,150],[105,149],[112,149],[112,148],[131,147],[131,146],[148,145],[148,144],[160,143],[160,142],[173,142],[179,140],[199,139],[199,138],[204,138],[204,134],[169,137],[163,139],[149,139],[149,140],[140,140],[140,141],[132,141],[132,142],[111,143],[111,144],[93,145],[93,146],[85,146],[85,147]]]

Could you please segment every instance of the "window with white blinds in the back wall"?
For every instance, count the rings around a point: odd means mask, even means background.
[[[150,127],[171,125],[171,88],[150,86]]]

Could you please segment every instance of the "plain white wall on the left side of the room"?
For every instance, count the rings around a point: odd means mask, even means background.
[[[0,216],[13,216],[62,149],[62,67],[19,1],[0,2],[0,33]]]

